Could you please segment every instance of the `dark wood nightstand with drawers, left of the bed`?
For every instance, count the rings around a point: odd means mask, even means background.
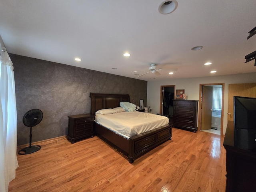
[[[68,116],[68,135],[67,138],[71,143],[76,140],[93,137],[94,115],[79,114]]]

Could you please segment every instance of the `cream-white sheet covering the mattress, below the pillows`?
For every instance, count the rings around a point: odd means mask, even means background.
[[[96,114],[95,121],[102,126],[131,137],[169,123],[165,116],[143,112],[120,112],[115,114]]]

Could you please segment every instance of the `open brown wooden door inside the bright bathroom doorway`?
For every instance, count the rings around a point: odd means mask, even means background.
[[[201,130],[212,128],[212,86],[202,86]]]

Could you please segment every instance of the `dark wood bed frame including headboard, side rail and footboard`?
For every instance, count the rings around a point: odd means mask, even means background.
[[[130,102],[128,94],[90,93],[90,98],[91,114],[95,114],[100,109],[119,107],[121,101]],[[126,156],[129,163],[133,163],[135,159],[172,138],[172,125],[169,124],[132,136],[130,139],[124,138],[96,122],[94,122],[94,131],[99,138]]]

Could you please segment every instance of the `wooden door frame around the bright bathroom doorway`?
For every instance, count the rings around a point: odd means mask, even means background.
[[[224,114],[224,90],[225,83],[208,83],[208,84],[199,84],[199,110],[198,110],[198,130],[201,131],[201,122],[202,122],[202,86],[205,85],[222,85],[222,100],[221,100],[221,119],[220,119],[220,135],[223,136],[223,114]]]

